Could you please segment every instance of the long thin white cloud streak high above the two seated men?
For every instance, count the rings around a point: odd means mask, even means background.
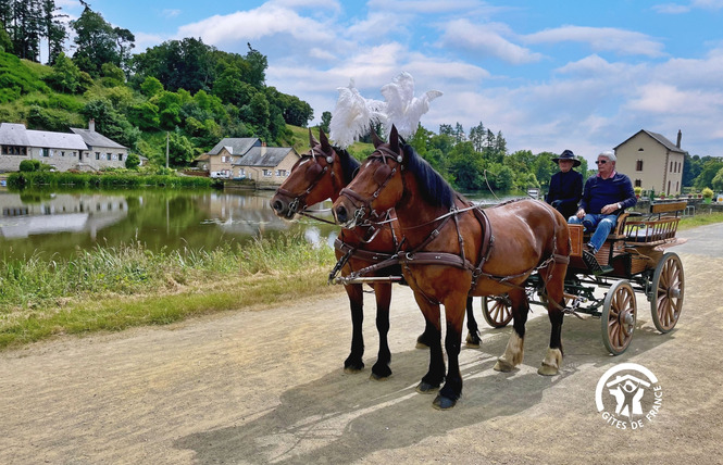
[[[663,45],[649,36],[614,27],[562,26],[524,36],[529,43],[584,42],[595,51],[626,55],[662,56]]]

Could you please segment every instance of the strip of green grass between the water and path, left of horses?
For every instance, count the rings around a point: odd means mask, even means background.
[[[0,349],[59,335],[165,325],[307,296],[326,286],[329,248],[301,235],[213,251],[98,247],[67,261],[5,262],[0,272]]]

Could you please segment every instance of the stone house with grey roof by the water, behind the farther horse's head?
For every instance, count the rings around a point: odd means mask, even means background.
[[[248,178],[259,185],[281,185],[299,160],[289,147],[266,147],[261,139],[225,138],[196,159],[196,166],[213,177]]]

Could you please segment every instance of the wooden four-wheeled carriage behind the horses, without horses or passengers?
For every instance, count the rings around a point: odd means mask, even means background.
[[[587,237],[582,225],[569,225],[571,261],[564,284],[565,306],[571,313],[585,313],[601,321],[602,342],[613,355],[631,343],[637,323],[635,292],[650,302],[652,323],[660,332],[675,327],[685,291],[681,259],[665,249],[680,244],[675,237],[686,202],[653,203],[647,214],[625,212],[608,236],[596,259],[607,273],[594,275],[582,260]],[[596,294],[597,288],[608,292]],[[525,281],[531,303],[547,305],[538,274]],[[507,294],[483,298],[483,316],[496,328],[507,326],[512,311]]]

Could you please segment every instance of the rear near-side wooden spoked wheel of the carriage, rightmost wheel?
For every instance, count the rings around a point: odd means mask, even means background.
[[[652,275],[652,296],[650,312],[652,323],[660,332],[668,332],[675,327],[683,310],[683,264],[676,253],[663,255]]]

